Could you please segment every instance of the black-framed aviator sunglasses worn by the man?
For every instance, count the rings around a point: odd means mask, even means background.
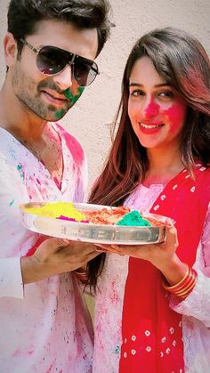
[[[68,64],[72,67],[72,75],[80,86],[91,85],[95,77],[99,75],[98,66],[94,61],[87,60],[75,53],[52,45],[45,45],[37,49],[22,38],[20,42],[37,53],[36,66],[45,75],[59,74]]]

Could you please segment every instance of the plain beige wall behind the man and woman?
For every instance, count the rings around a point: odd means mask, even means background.
[[[0,38],[6,31],[8,0],[0,0]],[[98,58],[101,75],[85,93],[62,123],[85,147],[89,162],[90,185],[99,174],[108,154],[109,127],[120,95],[121,77],[127,55],[134,41],[152,28],[183,28],[210,52],[209,0],[110,0],[113,8],[109,42]],[[21,26],[20,26],[21,27]],[[0,83],[4,82],[4,55],[0,45]]]

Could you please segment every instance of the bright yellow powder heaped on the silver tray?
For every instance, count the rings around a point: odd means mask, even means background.
[[[86,216],[68,202],[46,203],[41,207],[24,207],[24,210],[29,214],[45,217],[60,218],[60,216],[66,216],[77,222],[86,221]]]

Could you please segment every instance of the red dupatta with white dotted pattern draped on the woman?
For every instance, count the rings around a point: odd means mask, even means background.
[[[210,169],[186,170],[160,193],[150,212],[174,219],[177,254],[192,266],[210,199]],[[140,206],[141,207],[141,206]],[[130,258],[125,284],[120,373],[184,372],[182,315],[169,307],[162,274],[148,261]]]

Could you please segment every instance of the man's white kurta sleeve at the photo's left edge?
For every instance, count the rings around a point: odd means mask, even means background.
[[[20,190],[15,170],[0,156],[0,297],[23,297],[17,238]]]

